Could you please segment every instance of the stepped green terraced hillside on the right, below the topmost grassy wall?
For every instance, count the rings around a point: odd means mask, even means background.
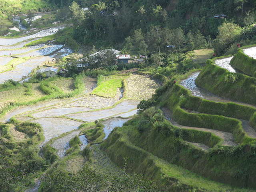
[[[116,128],[102,148],[118,166],[129,156],[130,171],[171,191],[256,191],[256,81],[229,61],[208,60],[200,73],[162,88],[153,96],[161,110]]]

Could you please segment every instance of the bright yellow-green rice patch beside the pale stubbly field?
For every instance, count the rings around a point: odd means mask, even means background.
[[[122,80],[124,78],[126,78],[126,76],[109,76],[109,79],[97,86],[91,94],[106,98],[113,98],[116,96],[116,90],[118,88],[122,88]]]

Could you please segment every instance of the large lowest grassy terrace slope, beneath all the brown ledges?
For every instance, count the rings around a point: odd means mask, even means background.
[[[203,152],[182,141],[179,136],[176,136],[175,129],[169,134],[161,134],[149,126],[148,130],[139,133],[136,129],[138,120],[139,118],[126,123],[122,128],[116,128],[102,144],[102,148],[118,166],[123,167],[126,164],[126,170],[141,173],[148,179],[160,180],[161,184],[166,184],[166,177],[171,182],[179,180],[180,186],[186,188],[193,186],[196,191],[242,192],[250,189],[236,190],[232,187],[232,190],[227,190],[224,186],[218,186],[222,184],[213,187],[210,180],[207,181],[207,186],[204,186],[200,176],[197,178],[190,176],[193,181],[188,184],[188,178],[183,178],[183,175],[179,175],[180,173],[169,166],[176,164],[211,180],[234,186],[256,188],[254,182],[256,162],[251,156],[254,154],[253,147],[222,146],[213,148],[210,152]],[[251,157],[248,158],[249,156]]]

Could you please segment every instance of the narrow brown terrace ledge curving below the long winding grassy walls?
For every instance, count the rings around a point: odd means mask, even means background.
[[[168,121],[170,121],[174,126],[177,126],[179,128],[184,128],[184,129],[194,129],[194,130],[199,130],[199,131],[204,131],[204,132],[211,132],[211,133],[215,134],[216,136],[223,139],[222,145],[237,146],[237,144],[234,142],[234,137],[233,137],[232,133],[223,132],[223,131],[214,130],[214,129],[183,126],[183,125],[178,124],[176,121],[174,121],[172,119],[172,112],[168,108],[161,108],[161,110],[163,111],[164,117]]]

